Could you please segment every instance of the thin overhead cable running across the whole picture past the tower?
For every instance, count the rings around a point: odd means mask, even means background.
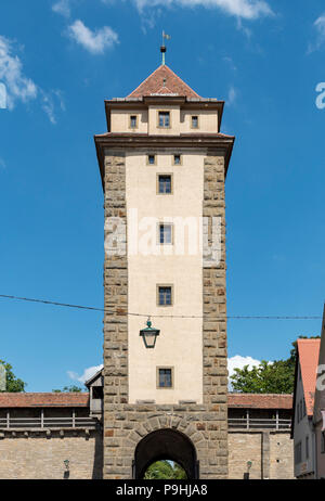
[[[80,310],[90,310],[90,311],[101,311],[105,313],[113,313],[114,311],[110,309],[105,309],[105,308],[96,308],[93,306],[82,306],[82,305],[70,305],[68,303],[58,303],[58,301],[52,301],[48,299],[35,299],[30,297],[20,297],[20,296],[10,296],[6,294],[0,294],[0,298],[2,299],[13,299],[13,300],[21,300],[21,301],[28,301],[28,303],[38,303],[42,305],[51,305],[51,306],[60,306],[64,308],[75,308],[75,309],[80,309]],[[128,314],[130,317],[143,317],[143,318],[168,318],[168,319],[203,319],[204,316],[187,316],[187,314],[150,314],[150,313],[136,313],[136,312],[130,312],[130,311],[122,311],[120,314]],[[217,317],[210,317],[209,319],[213,320],[322,320],[322,317],[320,316],[217,316]]]

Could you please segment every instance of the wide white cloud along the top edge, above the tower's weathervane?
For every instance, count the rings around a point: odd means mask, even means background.
[[[133,0],[136,8],[142,11],[147,7],[205,7],[218,8],[225,14],[235,15],[245,20],[256,20],[263,15],[273,15],[273,11],[265,0]]]

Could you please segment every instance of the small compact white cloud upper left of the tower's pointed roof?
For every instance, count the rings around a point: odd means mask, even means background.
[[[68,27],[68,36],[92,54],[102,54],[119,42],[118,35],[109,26],[92,31],[80,20]]]

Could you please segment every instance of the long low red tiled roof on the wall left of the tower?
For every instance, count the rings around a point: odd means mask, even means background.
[[[6,394],[0,393],[0,408],[89,407],[89,394]]]

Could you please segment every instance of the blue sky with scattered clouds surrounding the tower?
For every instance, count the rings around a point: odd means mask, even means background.
[[[322,314],[324,2],[4,3],[0,294],[103,306],[93,134],[106,131],[104,99],[127,95],[159,65],[165,29],[168,65],[200,95],[226,101],[222,131],[236,136],[229,314]],[[102,363],[102,317],[0,299],[0,358],[28,391],[72,384]],[[321,320],[230,320],[229,354],[285,358],[297,336],[320,330]]]

